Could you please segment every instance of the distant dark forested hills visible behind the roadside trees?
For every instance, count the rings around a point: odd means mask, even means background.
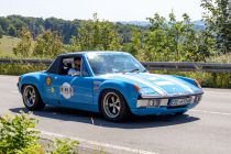
[[[22,26],[28,26],[32,32],[33,37],[36,37],[44,30],[52,30],[57,32],[63,37],[65,44],[70,43],[70,37],[77,35],[77,30],[82,25],[85,20],[63,20],[57,18],[30,18],[22,15],[8,15],[0,16],[0,33],[4,35],[16,36],[16,31],[21,30]],[[201,21],[193,22],[195,29],[202,30],[205,25]],[[118,21],[113,22],[113,26],[117,32],[122,36],[123,43],[131,41],[132,30],[134,28],[144,31],[148,29],[148,21]]]

